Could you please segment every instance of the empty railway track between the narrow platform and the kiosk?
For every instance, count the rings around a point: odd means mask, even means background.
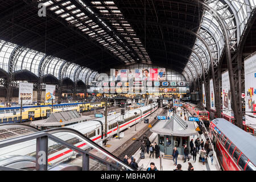
[[[159,114],[163,114],[164,111],[166,110],[163,110]],[[152,122],[150,122],[150,124],[154,126],[156,121],[158,121],[158,119],[154,119]],[[148,126],[145,126],[141,131],[142,132],[138,132],[137,134],[133,135],[133,137],[127,140],[127,142],[123,143],[122,146],[114,150],[113,155],[117,156],[121,160],[123,160],[123,157],[125,155],[127,155],[128,157],[134,155],[135,152],[138,151],[141,147],[144,134],[146,134],[147,137],[150,137],[150,135],[152,134]],[[136,138],[136,140],[133,140],[133,138]]]

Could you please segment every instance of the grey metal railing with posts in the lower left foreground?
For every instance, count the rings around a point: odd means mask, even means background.
[[[11,125],[11,124],[10,124]],[[14,124],[17,125],[17,124]],[[75,135],[75,137],[82,140],[82,142],[85,142],[88,144],[89,147],[92,147],[93,149],[97,150],[97,152],[100,152],[105,156],[105,159],[100,158],[99,156],[96,156],[94,154],[91,154],[90,152],[86,150],[82,150],[79,147],[76,147],[75,145],[68,143],[58,137],[55,137],[53,134],[56,133],[68,133]],[[48,140],[52,140],[53,142],[56,142],[58,144],[61,144],[62,146],[68,148],[69,150],[73,150],[76,152],[76,154],[80,154],[82,156],[82,170],[89,171],[89,164],[90,164],[90,158],[97,160],[98,163],[102,166],[106,166],[106,170],[130,170],[133,171],[133,169],[129,166],[127,166],[125,163],[123,163],[121,160],[119,160],[114,155],[110,154],[108,151],[106,151],[104,148],[99,146],[98,144],[94,143],[89,138],[86,138],[84,135],[79,133],[76,130],[73,129],[50,129],[45,131],[38,131],[36,133],[24,135],[21,137],[11,138],[0,141],[0,150],[4,150],[4,147],[10,147],[15,146],[17,144],[23,143],[23,142],[29,142],[31,140],[36,139],[36,167],[35,169],[38,171],[46,171],[48,169]],[[44,154],[44,155],[42,155]],[[42,158],[44,156],[44,158]],[[42,160],[43,159],[43,160]],[[110,159],[109,162],[106,159]],[[11,170],[12,168],[8,168],[5,166],[0,166],[0,170],[6,171]],[[20,170],[15,169],[13,170]]]

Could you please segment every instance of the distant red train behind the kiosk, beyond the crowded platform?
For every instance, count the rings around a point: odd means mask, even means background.
[[[210,113],[203,107],[192,104],[190,102],[184,102],[182,105],[185,109],[189,111],[191,115],[198,115],[199,118],[204,122],[205,126],[209,126],[210,124]]]

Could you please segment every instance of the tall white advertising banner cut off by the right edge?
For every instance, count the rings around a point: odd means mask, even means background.
[[[245,125],[256,125],[256,54],[245,59]]]

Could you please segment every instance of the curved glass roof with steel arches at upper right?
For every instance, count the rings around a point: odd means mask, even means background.
[[[221,28],[220,20],[216,18],[213,11],[220,16],[221,21],[224,22],[229,36],[229,45],[231,49],[237,49],[237,45],[241,40],[241,35],[245,29],[246,23],[250,17],[251,11],[256,7],[255,0],[213,0],[206,1],[210,8],[206,8],[201,19],[201,24],[197,35],[195,46],[190,57],[193,65],[196,66],[199,76],[203,73],[199,64],[199,57],[203,61],[205,71],[208,72],[210,68],[210,58],[213,59],[214,66],[217,65],[221,53],[224,51],[225,38],[224,32]],[[197,78],[196,72],[191,63],[187,63],[188,68],[184,69],[189,80]],[[185,75],[185,74],[183,74]]]

